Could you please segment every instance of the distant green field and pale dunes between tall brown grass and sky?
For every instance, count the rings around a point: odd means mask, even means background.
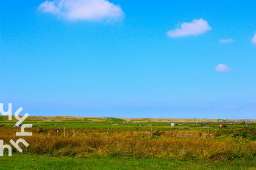
[[[236,124],[234,122],[236,121]],[[1,126],[12,127],[16,123],[13,116],[12,121],[8,120],[6,116],[0,116]],[[126,123],[124,123],[126,122]],[[195,119],[195,118],[113,118],[113,117],[27,117],[24,123],[33,124],[33,127],[70,127],[70,128],[120,128],[120,129],[169,129],[170,123],[178,123],[179,126],[174,126],[174,129],[190,128],[216,129],[220,124],[226,124],[229,127],[254,126],[256,120],[223,120],[223,119]],[[205,126],[201,126],[204,124]]]

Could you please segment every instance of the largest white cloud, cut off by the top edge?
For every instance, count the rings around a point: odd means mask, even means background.
[[[124,12],[119,5],[106,0],[53,0],[44,1],[38,10],[63,17],[88,21],[123,20]]]

